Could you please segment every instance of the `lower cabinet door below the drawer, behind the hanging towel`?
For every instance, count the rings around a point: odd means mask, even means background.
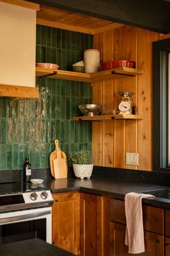
[[[125,225],[110,221],[109,256],[130,256],[125,245]],[[146,252],[141,256],[164,256],[164,236],[145,231]]]

